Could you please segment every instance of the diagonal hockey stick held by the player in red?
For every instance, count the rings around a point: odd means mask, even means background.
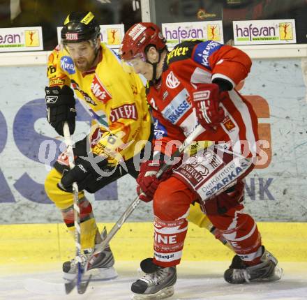
[[[201,133],[204,132],[204,128],[200,125],[198,125],[195,130],[190,133],[190,135],[188,135],[188,137],[186,138],[186,140],[184,140],[183,144],[181,144],[181,146],[179,147],[179,149],[177,149],[171,156],[170,161],[172,161],[174,158],[179,157],[184,150],[186,149],[186,147],[188,147],[194,140],[195,138],[200,135]],[[162,167],[160,167],[160,170],[158,171],[158,173],[156,174],[157,178],[160,178],[162,176],[162,174],[167,171],[167,169],[170,167],[170,164],[167,163],[163,163]],[[123,223],[126,222],[127,218],[130,216],[131,213],[133,213],[133,211],[135,210],[135,208],[138,206],[138,204],[140,204],[140,197],[136,197],[135,200],[133,202],[131,202],[131,204],[128,206],[128,208],[126,209],[126,211],[123,212],[123,214],[121,215],[121,217],[119,218],[119,220],[117,221],[117,223],[115,223],[115,225],[112,227],[112,229],[110,230],[109,234],[107,234],[107,237],[98,245],[98,247],[96,248],[96,250],[91,254],[91,256],[89,257],[89,259],[87,260],[87,264],[85,265],[84,268],[84,273],[87,272],[87,270],[89,270],[94,262],[94,260],[96,259],[96,256],[103,252],[103,250],[105,249],[105,247],[107,246],[107,244],[110,242],[110,240],[114,237],[115,234],[117,234],[117,232],[119,231],[119,229],[121,228],[121,226],[123,225]],[[76,281],[75,281],[76,282]],[[82,286],[84,287],[84,290],[80,291],[80,294],[83,294],[86,290],[87,290],[87,286]],[[81,287],[81,288],[82,288]]]

